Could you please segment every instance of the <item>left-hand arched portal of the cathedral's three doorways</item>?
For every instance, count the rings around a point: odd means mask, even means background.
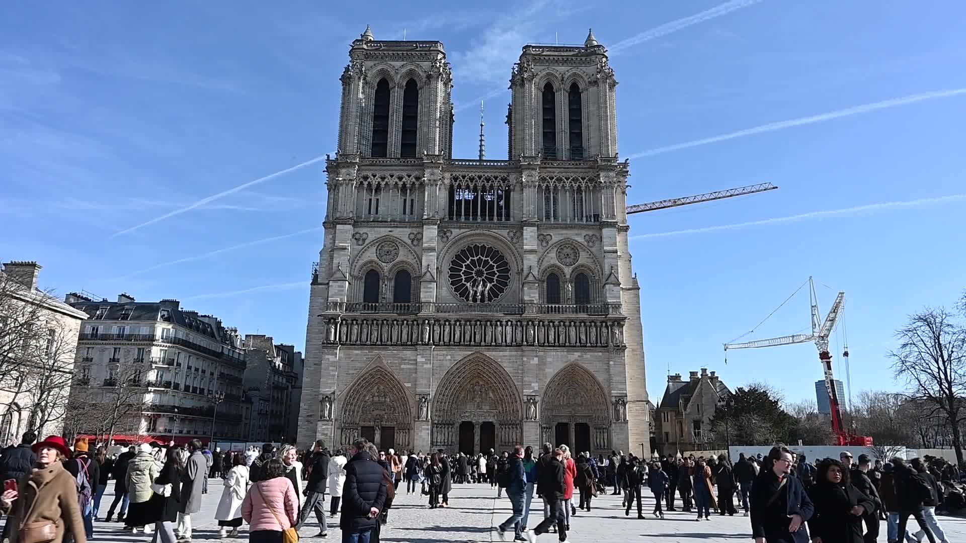
[[[412,402],[383,366],[368,369],[345,392],[339,420],[343,446],[362,437],[380,450],[412,448]]]

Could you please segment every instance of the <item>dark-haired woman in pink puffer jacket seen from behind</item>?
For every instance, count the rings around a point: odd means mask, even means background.
[[[271,459],[259,471],[260,480],[241,501],[241,518],[248,523],[249,543],[281,543],[282,530],[298,523],[298,495],[285,476],[281,460]]]

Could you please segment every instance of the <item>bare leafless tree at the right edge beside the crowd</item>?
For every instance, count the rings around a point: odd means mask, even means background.
[[[899,346],[893,359],[895,378],[912,388],[926,416],[939,415],[949,425],[956,461],[963,463],[960,424],[966,420],[966,329],[952,313],[926,307],[895,332]]]

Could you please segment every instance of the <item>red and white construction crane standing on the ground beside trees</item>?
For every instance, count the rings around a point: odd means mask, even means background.
[[[804,285],[803,285],[804,286]],[[799,287],[801,288],[801,287]],[[760,339],[745,343],[725,343],[725,351],[729,349],[757,349],[759,347],[776,347],[779,345],[792,345],[795,343],[814,342],[818,348],[818,360],[822,364],[825,373],[825,389],[829,394],[829,407],[832,412],[832,432],[836,435],[839,445],[852,446],[871,446],[872,438],[867,436],[857,436],[847,431],[842,424],[842,414],[839,409],[838,392],[836,391],[834,376],[832,374],[832,355],[829,354],[829,336],[836,329],[838,316],[845,307],[845,293],[839,292],[829,314],[822,320],[821,313],[818,312],[818,297],[815,296],[815,284],[809,277],[810,302],[811,302],[811,333],[796,333],[771,339]],[[794,295],[792,295],[794,296]],[[787,301],[787,300],[786,300]],[[845,351],[844,357],[848,357]]]

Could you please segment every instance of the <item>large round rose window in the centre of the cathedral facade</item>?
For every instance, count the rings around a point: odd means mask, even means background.
[[[467,245],[449,263],[449,286],[463,300],[499,300],[509,285],[510,264],[506,257],[484,243]]]

